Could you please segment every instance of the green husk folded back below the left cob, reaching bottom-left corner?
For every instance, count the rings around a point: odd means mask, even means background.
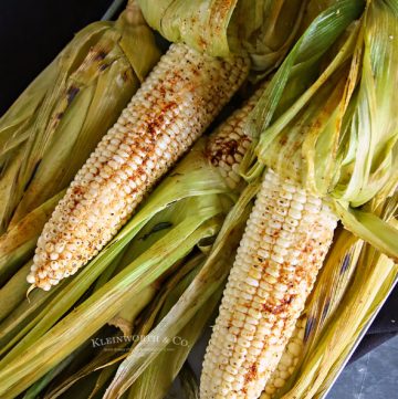
[[[224,200],[220,200],[221,195],[224,196]],[[149,286],[178,260],[200,244],[203,238],[212,238],[232,204],[233,197],[233,192],[218,171],[209,167],[205,154],[205,139],[200,140],[105,250],[87,267],[71,279],[64,288],[56,286],[55,293],[50,293],[49,302],[44,306],[41,304],[36,307],[38,313],[35,315],[33,313],[32,322],[20,328],[18,324],[6,318],[2,326],[8,326],[8,336],[12,332],[15,335],[11,339],[3,336],[6,343],[1,350],[3,354],[8,353],[0,361],[2,368],[0,378],[3,381],[1,389],[2,387],[4,389],[12,387],[12,389],[8,390],[7,395],[6,391],[1,391],[0,395],[12,396],[41,378],[112,319],[132,296]],[[171,216],[174,219],[170,219]],[[171,225],[168,224],[167,229],[154,232],[154,225],[170,220]],[[145,225],[151,234],[145,240],[144,246],[139,245],[135,249],[132,240],[136,238],[137,242],[143,241],[139,233]],[[148,232],[143,231],[143,234],[147,235]],[[117,261],[117,256],[129,244],[133,245],[134,260],[125,267],[121,267],[114,277],[56,323],[82,297],[107,265],[114,260]],[[35,293],[33,292],[32,296],[33,294]],[[34,305],[35,298],[33,297],[31,302]],[[25,318],[21,317],[20,321],[23,326]],[[35,350],[40,347],[40,343],[48,348],[45,350],[49,350],[45,358],[41,355],[42,350]],[[31,360],[25,356],[32,357]],[[25,361],[22,360],[23,358]],[[18,370],[18,376],[12,370]]]

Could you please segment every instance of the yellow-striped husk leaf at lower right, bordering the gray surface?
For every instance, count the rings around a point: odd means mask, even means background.
[[[398,267],[390,259],[369,245],[364,248],[349,290],[282,398],[317,398],[327,389],[397,276]]]

